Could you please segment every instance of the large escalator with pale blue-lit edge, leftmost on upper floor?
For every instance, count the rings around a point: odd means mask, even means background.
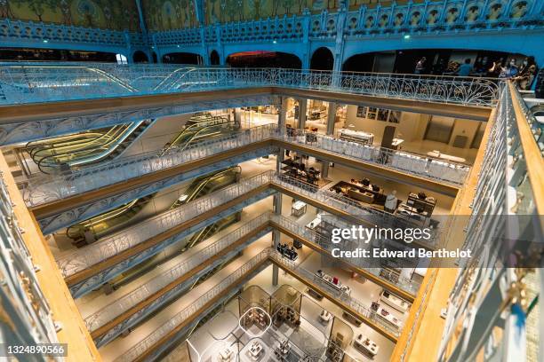
[[[115,159],[153,122],[125,123],[104,130],[29,142],[25,148],[38,169],[45,174],[78,169]]]

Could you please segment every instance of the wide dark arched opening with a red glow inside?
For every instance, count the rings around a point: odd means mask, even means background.
[[[230,67],[283,67],[300,69],[302,62],[294,54],[282,51],[243,51],[227,57]]]

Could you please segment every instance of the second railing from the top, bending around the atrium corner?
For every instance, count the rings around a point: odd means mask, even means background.
[[[280,132],[276,125],[267,124],[185,148],[172,148],[168,153],[162,153],[162,151],[141,153],[85,169],[35,177],[22,185],[23,197],[29,207],[43,205],[268,139],[281,139],[293,144],[324,149],[330,153],[347,156],[354,161],[368,161],[385,168],[399,169],[452,185],[462,185],[470,170],[468,166],[459,163],[393,151],[379,146],[359,145],[301,130],[290,131],[286,134]]]

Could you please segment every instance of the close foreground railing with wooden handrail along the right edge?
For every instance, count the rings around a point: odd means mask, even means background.
[[[516,93],[512,84],[502,87],[491,125],[463,246],[475,257],[461,265],[450,295],[441,361],[502,358],[506,346],[509,356],[525,359],[523,280],[541,266],[544,164]],[[490,310],[496,313],[482,312]]]

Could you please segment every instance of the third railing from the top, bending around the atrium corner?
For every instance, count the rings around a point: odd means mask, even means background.
[[[245,193],[250,193],[253,190],[269,185],[279,185],[292,190],[294,193],[304,195],[318,203],[332,206],[348,213],[368,224],[380,224],[382,226],[391,225],[399,228],[420,227],[417,221],[411,221],[404,217],[388,214],[380,210],[372,210],[370,207],[365,207],[348,198],[339,197],[328,191],[318,190],[308,187],[308,184],[301,184],[299,180],[284,175],[276,175],[274,171],[266,171],[257,176],[244,178],[235,185],[228,187],[204,196],[196,201],[188,202],[177,209],[165,211],[162,214],[151,217],[140,224],[136,224],[121,232],[108,236],[102,240],[98,240],[90,246],[79,248],[72,253],[62,256],[57,263],[64,277],[69,277],[79,271],[91,268],[95,264],[107,260],[118,255],[125,250],[134,248],[141,243],[155,237],[156,235],[166,232],[173,227],[187,222],[201,215],[203,212],[210,211],[220,205],[232,201]],[[264,191],[263,191],[264,192]],[[428,243],[433,246],[438,240],[440,230],[436,230],[434,237],[428,240]]]

